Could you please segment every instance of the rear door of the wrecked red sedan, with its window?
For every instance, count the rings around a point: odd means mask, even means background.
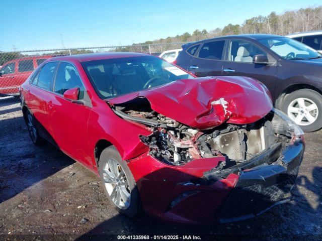
[[[36,126],[47,140],[52,141],[53,131],[49,121],[48,102],[52,98],[52,84],[58,62],[49,62],[42,66],[30,78],[30,85],[24,92],[25,101],[36,118]],[[54,143],[55,144],[55,143]]]

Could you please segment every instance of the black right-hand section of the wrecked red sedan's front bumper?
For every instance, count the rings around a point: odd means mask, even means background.
[[[288,146],[278,160],[241,171],[220,213],[221,222],[247,219],[262,214],[290,198],[301,164],[304,145]]]

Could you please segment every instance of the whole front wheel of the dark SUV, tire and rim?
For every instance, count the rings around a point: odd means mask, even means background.
[[[312,89],[300,89],[288,94],[282,111],[304,132],[322,127],[322,95]]]

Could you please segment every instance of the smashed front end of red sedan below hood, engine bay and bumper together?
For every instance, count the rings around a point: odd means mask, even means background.
[[[304,152],[301,129],[273,108],[254,122],[229,122],[244,116],[230,111],[233,101],[219,100],[209,103],[217,105],[216,114],[221,108],[225,121],[206,128],[157,112],[147,97],[110,104],[115,114],[151,133],[139,136],[148,153],[128,164],[145,211],[185,223],[227,222],[289,198]]]

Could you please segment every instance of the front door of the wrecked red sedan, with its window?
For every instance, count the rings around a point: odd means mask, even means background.
[[[74,87],[79,88],[79,99],[88,104],[73,103],[63,97],[66,90]],[[92,168],[87,133],[91,102],[77,69],[71,63],[60,62],[53,92],[48,108],[56,144],[67,155]]]

